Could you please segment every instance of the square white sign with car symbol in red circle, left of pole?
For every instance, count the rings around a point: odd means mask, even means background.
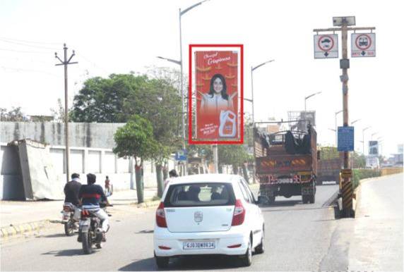
[[[338,58],[338,35],[314,35],[314,58]]]

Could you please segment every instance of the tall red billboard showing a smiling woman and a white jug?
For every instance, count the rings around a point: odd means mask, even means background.
[[[242,144],[242,53],[241,44],[190,44],[190,144]]]

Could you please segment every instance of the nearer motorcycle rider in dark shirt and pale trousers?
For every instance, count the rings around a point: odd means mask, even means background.
[[[105,202],[107,206],[111,206],[105,197],[104,190],[100,185],[95,184],[95,175],[92,173],[87,174],[87,185],[82,185],[80,192],[78,192],[78,199],[82,204],[81,208],[91,211],[95,216],[100,218],[102,231],[102,242],[105,242],[105,233],[109,228],[109,220],[107,213],[100,209],[100,202]]]

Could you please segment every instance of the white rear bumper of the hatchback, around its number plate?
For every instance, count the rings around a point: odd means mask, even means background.
[[[184,242],[215,242],[214,249],[184,249]],[[155,228],[154,250],[156,256],[181,256],[201,254],[241,255],[246,252],[249,233],[242,228],[203,233],[170,233],[167,228]],[[232,245],[239,247],[229,248]],[[166,249],[162,249],[164,247]]]

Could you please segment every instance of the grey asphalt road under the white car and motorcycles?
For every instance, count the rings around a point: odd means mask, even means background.
[[[224,257],[174,259],[170,270],[319,271],[345,270],[348,259],[335,252],[338,235],[333,209],[323,204],[337,185],[317,187],[316,203],[302,204],[301,197],[277,198],[262,208],[266,220],[266,252],[254,255],[248,268],[237,268]],[[122,207],[120,207],[122,208]],[[76,236],[65,237],[62,225],[38,237],[1,245],[3,271],[155,271],[153,224],[155,209],[111,211],[112,228],[105,247],[83,255]],[[330,251],[333,248],[334,250]],[[335,260],[337,258],[337,260]],[[208,261],[207,261],[208,260]]]

